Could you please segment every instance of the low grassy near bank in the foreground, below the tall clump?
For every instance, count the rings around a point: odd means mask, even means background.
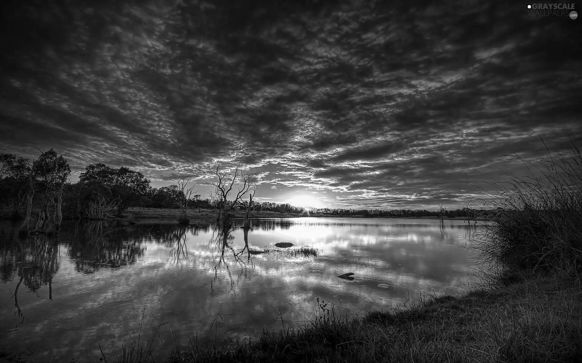
[[[513,275],[492,289],[361,317],[340,317],[322,301],[318,307],[305,326],[244,344],[192,342],[165,362],[582,361],[582,286],[566,275]]]

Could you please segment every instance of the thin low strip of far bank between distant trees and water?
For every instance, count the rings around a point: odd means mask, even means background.
[[[232,211],[236,218],[244,218],[246,212]],[[162,208],[128,208],[124,213],[128,218],[178,218],[181,215],[179,209]],[[212,209],[193,209],[188,211],[188,218],[216,218],[217,213]],[[307,213],[278,213],[271,211],[251,211],[250,218],[298,218],[298,217],[320,217],[320,218],[365,218],[364,215],[335,215],[335,214],[307,214]],[[406,218],[406,219],[430,219],[438,220],[438,217],[378,217],[378,218]],[[445,217],[444,220],[464,220],[467,218]],[[486,221],[481,218],[470,218],[470,221]]]

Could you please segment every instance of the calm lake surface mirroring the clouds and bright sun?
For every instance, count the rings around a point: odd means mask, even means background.
[[[68,222],[58,240],[17,239],[0,225],[1,350],[30,361],[109,361],[121,342],[137,339],[169,353],[188,336],[214,342],[258,336],[263,328],[303,324],[319,297],[343,314],[402,303],[419,293],[459,293],[475,254],[463,221],[388,218],[254,220],[251,250],[277,242],[311,246],[318,257],[253,255],[236,228],[222,248],[212,224],[180,228],[169,221],[137,225]],[[477,230],[482,227],[478,227]],[[354,272],[354,280],[337,276]],[[212,325],[214,321],[218,325]],[[212,327],[211,327],[212,326]]]

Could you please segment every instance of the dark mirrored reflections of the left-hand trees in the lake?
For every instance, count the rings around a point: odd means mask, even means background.
[[[269,226],[272,227],[272,226]],[[159,243],[170,247],[169,258],[175,265],[192,264],[196,257],[187,246],[188,236],[210,233],[209,250],[212,253],[210,281],[211,294],[215,283],[228,276],[230,290],[254,268],[253,254],[249,250],[249,230],[243,230],[244,246],[235,246],[233,231],[236,225],[223,228],[208,222],[198,222],[189,227],[175,225],[130,225],[119,221],[79,221],[62,225],[59,235],[31,235],[20,239],[15,231],[3,228],[0,240],[0,279],[6,283],[15,281],[13,291],[15,314],[24,314],[18,304],[18,293],[23,285],[38,296],[42,286],[48,285],[48,299],[52,300],[52,280],[59,270],[59,246],[65,246],[63,254],[69,257],[76,272],[93,274],[102,268],[118,269],[137,262],[144,254],[144,243]],[[9,232],[12,231],[12,232]],[[214,271],[212,271],[214,270]],[[235,272],[236,270],[236,272]]]

